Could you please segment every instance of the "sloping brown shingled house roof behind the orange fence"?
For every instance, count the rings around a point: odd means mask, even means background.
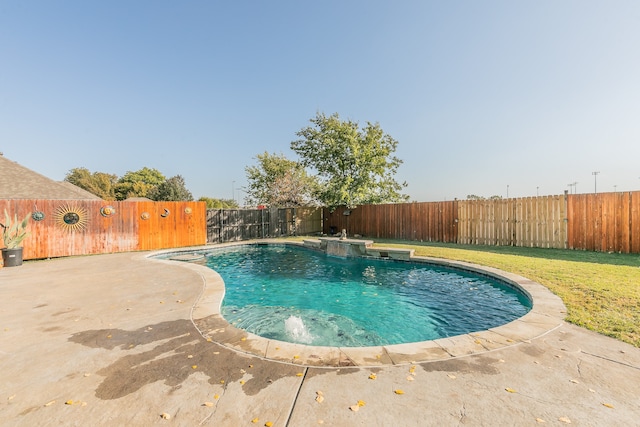
[[[101,200],[70,182],[58,182],[0,155],[0,200]]]

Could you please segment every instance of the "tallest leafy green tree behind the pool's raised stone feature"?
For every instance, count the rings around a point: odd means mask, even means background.
[[[296,133],[291,149],[319,179],[316,196],[329,208],[407,201],[405,183],[394,175],[402,160],[394,156],[398,141],[378,123],[342,121],[337,113],[317,113],[311,126]]]

